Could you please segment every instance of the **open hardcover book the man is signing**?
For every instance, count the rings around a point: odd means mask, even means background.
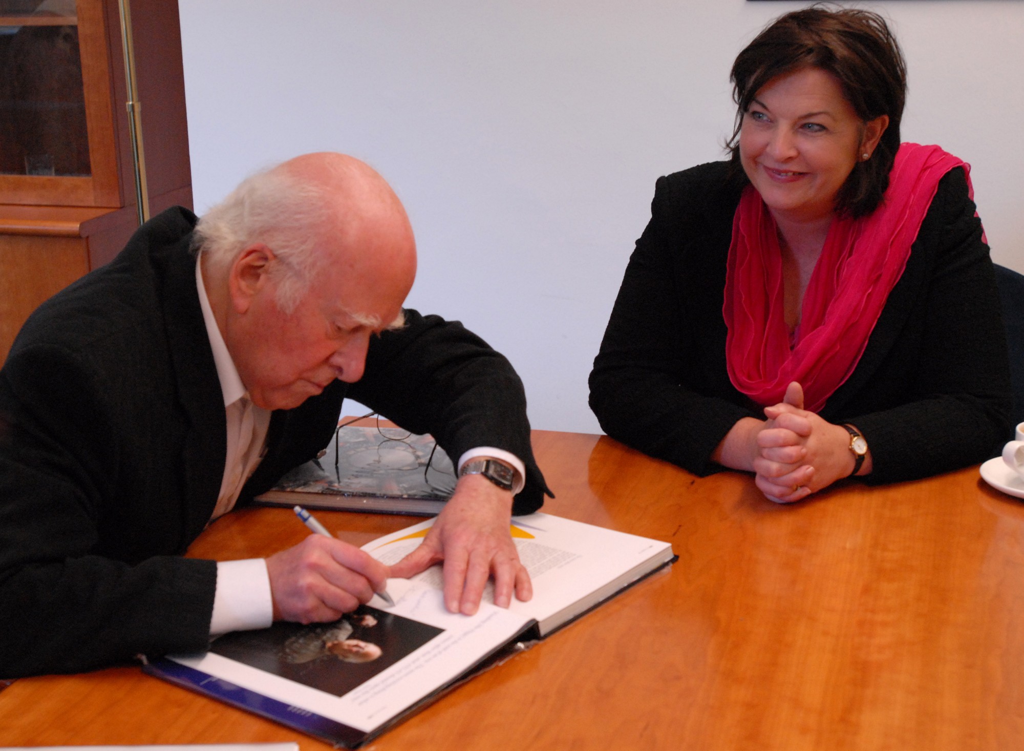
[[[433,519],[364,549],[393,564]],[[534,513],[512,519],[534,598],[505,610],[492,585],[472,617],[449,613],[440,567],[388,581],[379,597],[329,624],[276,623],[220,636],[209,652],[143,669],[346,748],[375,738],[459,681],[672,562],[667,542]]]

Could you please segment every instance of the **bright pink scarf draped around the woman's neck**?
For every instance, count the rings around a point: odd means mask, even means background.
[[[753,185],[732,220],[722,314],[732,384],[756,403],[778,404],[791,381],[818,412],[860,361],[892,288],[910,256],[925,214],[950,169],[970,165],[934,145],[903,143],[882,204],[859,219],[833,218],[790,340],[775,221]]]

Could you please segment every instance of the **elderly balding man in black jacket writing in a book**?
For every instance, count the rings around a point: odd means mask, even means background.
[[[509,516],[548,490],[522,384],[460,324],[402,309],[415,275],[384,179],[310,154],[198,223],[162,213],[40,306],[0,371],[0,677],[332,621],[439,560],[453,612],[488,577],[499,604],[528,598]],[[316,535],[265,560],[180,557],[323,448],[346,395],[459,458],[420,548],[390,571]]]

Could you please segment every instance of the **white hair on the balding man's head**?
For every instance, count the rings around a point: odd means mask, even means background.
[[[211,272],[226,274],[248,247],[262,243],[281,261],[270,268],[276,303],[291,314],[325,260],[315,248],[337,226],[338,205],[330,187],[270,168],[247,177],[196,225],[193,247]]]

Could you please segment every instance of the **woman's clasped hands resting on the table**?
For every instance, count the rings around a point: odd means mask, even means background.
[[[765,408],[753,468],[762,493],[778,503],[800,501],[853,472],[850,433],[804,409],[804,389],[794,381],[777,405]],[[870,457],[860,470],[870,470]]]

